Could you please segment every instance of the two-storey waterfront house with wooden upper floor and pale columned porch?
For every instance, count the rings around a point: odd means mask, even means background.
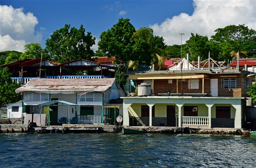
[[[254,76],[198,64],[182,59],[169,70],[128,72],[129,90],[138,96],[122,97],[123,125],[243,127]]]

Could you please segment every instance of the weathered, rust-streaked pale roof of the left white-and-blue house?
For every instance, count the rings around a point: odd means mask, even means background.
[[[23,87],[15,92],[37,92],[37,93],[63,93],[79,95],[88,92],[105,92],[116,82],[115,78],[100,79],[48,79],[33,78]]]

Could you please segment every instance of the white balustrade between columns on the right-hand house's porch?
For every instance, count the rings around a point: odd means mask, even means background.
[[[209,125],[209,117],[182,116],[182,125]]]

